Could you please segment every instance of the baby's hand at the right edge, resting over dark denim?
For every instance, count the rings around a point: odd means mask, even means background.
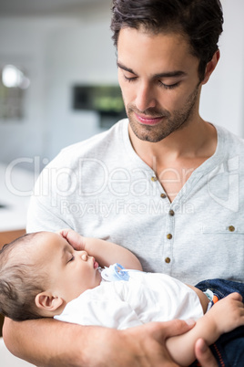
[[[239,293],[231,293],[224,299],[220,299],[206,316],[212,317],[216,326],[223,334],[244,325],[244,305]]]

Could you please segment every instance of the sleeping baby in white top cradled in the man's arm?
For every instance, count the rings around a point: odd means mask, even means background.
[[[110,267],[116,261],[121,266]],[[194,345],[200,337],[210,345],[244,325],[239,293],[211,307],[216,298],[211,290],[205,293],[201,287],[141,270],[137,257],[126,248],[71,229],[28,234],[0,251],[0,311],[13,320],[55,317],[117,329],[194,319],[193,329],[167,341],[173,359],[186,366],[195,360]],[[230,283],[237,290],[243,287]]]

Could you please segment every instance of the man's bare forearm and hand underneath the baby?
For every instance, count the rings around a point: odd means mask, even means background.
[[[182,320],[153,322],[115,330],[68,324],[53,319],[5,320],[7,348],[37,366],[58,367],[177,367],[166,339],[188,331]]]

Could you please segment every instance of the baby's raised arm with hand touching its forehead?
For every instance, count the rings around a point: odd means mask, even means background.
[[[80,236],[72,229],[62,229],[60,235],[76,250],[85,250],[96,258],[100,267],[119,263],[123,267],[142,270],[139,260],[127,248],[104,241],[103,239]]]

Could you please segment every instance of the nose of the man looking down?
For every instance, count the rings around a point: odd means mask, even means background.
[[[153,87],[146,82],[141,82],[137,87],[137,110],[145,111],[149,108],[156,107],[156,98]]]

